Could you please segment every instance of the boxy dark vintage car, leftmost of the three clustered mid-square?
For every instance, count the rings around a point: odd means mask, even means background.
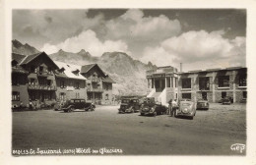
[[[121,105],[118,109],[119,113],[134,113],[140,111],[140,101],[138,97],[121,97]]]

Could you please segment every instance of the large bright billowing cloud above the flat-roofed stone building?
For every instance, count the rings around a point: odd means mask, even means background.
[[[224,30],[188,31],[146,47],[141,58],[158,66],[184,63],[188,69],[207,69],[245,65],[245,37],[224,38]]]

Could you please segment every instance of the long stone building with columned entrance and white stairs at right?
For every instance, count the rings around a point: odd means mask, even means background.
[[[206,71],[177,72],[173,67],[160,67],[147,72],[148,96],[166,104],[169,99],[188,98],[194,101],[207,99],[219,102],[225,96],[233,102],[241,102],[247,97],[247,69],[232,67],[226,69],[209,69]],[[156,81],[165,83],[156,85]],[[170,81],[169,81],[170,80]],[[172,83],[170,84],[168,82]],[[164,98],[165,97],[165,98]]]

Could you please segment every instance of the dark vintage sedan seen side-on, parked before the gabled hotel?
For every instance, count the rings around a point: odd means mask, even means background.
[[[67,100],[63,106],[61,106],[61,110],[64,112],[72,112],[75,109],[84,109],[85,111],[94,111],[96,108],[96,105],[91,102],[86,102],[85,99],[69,99]]]

